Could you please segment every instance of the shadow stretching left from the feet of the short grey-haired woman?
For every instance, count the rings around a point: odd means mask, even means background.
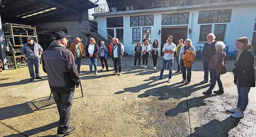
[[[190,99],[183,100],[183,101],[179,102],[179,104],[175,108],[172,108],[172,109],[166,111],[165,115],[167,117],[174,117],[174,116],[178,115],[179,113],[188,112],[189,109],[191,109],[191,108],[205,106],[206,103],[203,102],[203,100],[208,97],[213,97],[216,95],[218,95],[218,94],[204,95],[204,96],[200,96],[200,97],[193,97]]]

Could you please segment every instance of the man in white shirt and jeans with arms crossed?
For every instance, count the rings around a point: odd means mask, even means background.
[[[163,61],[162,61],[162,66],[161,66],[161,72],[160,72],[160,76],[156,79],[156,80],[160,80],[163,78],[163,73],[164,73],[164,66],[166,65],[166,63],[168,62],[168,66],[169,66],[169,77],[168,77],[168,83],[171,82],[171,71],[172,71],[172,63],[173,63],[173,53],[175,51],[176,45],[174,43],[172,43],[172,36],[168,36],[168,43],[164,44],[163,47]]]

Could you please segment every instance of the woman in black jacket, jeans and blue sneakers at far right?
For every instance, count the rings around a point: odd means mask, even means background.
[[[238,91],[238,101],[236,108],[227,109],[227,111],[233,113],[230,115],[231,117],[243,118],[249,101],[248,93],[251,87],[255,87],[254,49],[246,37],[237,39],[235,45],[238,53],[235,57],[233,73]]]

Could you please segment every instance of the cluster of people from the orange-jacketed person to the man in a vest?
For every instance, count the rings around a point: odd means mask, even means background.
[[[108,64],[107,64],[108,54],[113,59],[114,70],[115,70],[113,75],[122,74],[121,58],[124,53],[124,46],[121,43],[119,43],[119,40],[117,38],[112,38],[112,43],[110,44],[109,49],[105,46],[104,41],[101,41],[100,46],[98,46],[94,38],[90,38],[90,43],[88,43],[86,47],[84,47],[83,44],[80,42],[81,40],[77,37],[75,38],[75,42],[70,45],[70,50],[74,55],[75,65],[77,66],[77,71],[79,74],[81,74],[80,72],[80,67],[82,63],[81,60],[83,59],[84,55],[89,60],[89,68],[90,68],[89,75],[93,73],[93,67],[94,67],[95,75],[98,74],[98,70],[97,70],[98,57],[100,58],[100,62],[102,66],[101,70],[109,71]]]

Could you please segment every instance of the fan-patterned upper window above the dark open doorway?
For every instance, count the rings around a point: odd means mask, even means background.
[[[162,25],[188,24],[189,13],[162,14]]]

